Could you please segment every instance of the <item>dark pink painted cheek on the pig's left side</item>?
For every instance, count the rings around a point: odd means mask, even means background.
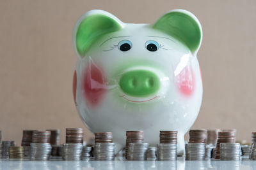
[[[84,97],[91,106],[96,106],[102,102],[106,94],[106,81],[103,71],[94,62],[90,62],[89,65],[84,72]]]

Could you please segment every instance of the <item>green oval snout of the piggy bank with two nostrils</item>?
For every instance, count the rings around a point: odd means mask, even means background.
[[[124,94],[146,97],[157,92],[160,81],[158,76],[151,71],[133,70],[122,75],[119,85]]]

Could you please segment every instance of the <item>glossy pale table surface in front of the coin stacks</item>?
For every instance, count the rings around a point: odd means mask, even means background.
[[[204,161],[31,161],[31,160],[0,160],[0,169],[256,169],[256,161],[222,161],[222,160],[204,160]]]

